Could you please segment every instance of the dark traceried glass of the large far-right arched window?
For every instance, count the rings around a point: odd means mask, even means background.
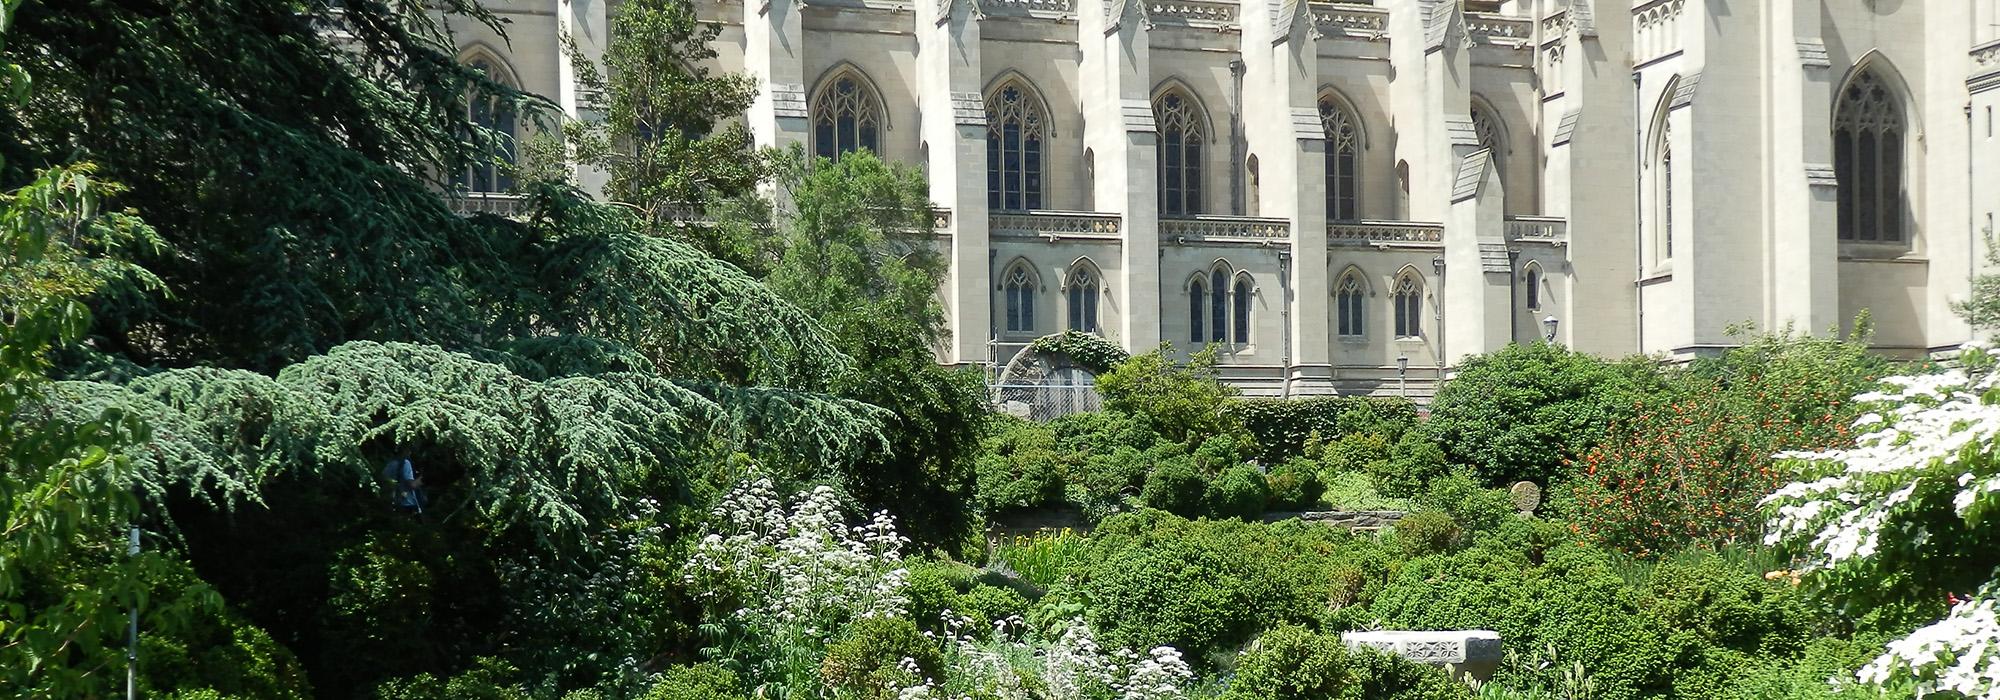
[[[1902,242],[1902,138],[1896,92],[1862,70],[1834,110],[1840,240]]]

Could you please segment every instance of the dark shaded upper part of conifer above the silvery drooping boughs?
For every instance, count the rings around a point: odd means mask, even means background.
[[[276,370],[358,338],[496,336],[476,302],[516,282],[508,236],[436,192],[508,148],[466,100],[550,104],[460,66],[442,16],[502,28],[476,0],[20,6],[0,64],[34,92],[0,108],[0,186],[94,162],[172,246],[136,262],[174,294],[106,288],[96,348]]]

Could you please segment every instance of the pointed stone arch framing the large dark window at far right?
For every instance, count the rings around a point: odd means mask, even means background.
[[[1918,132],[1910,88],[1878,50],[1864,54],[1834,92],[1836,236],[1908,244],[1910,154]]]

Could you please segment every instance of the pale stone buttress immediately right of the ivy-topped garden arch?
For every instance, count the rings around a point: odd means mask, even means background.
[[[1122,298],[1112,292],[1126,350],[1160,344],[1160,132],[1152,120],[1150,28],[1142,0],[1078,2],[1084,146],[1096,168],[1094,200],[1120,218]]]

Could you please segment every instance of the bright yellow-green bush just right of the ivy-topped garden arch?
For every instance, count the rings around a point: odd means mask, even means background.
[[[1208,348],[1176,366],[1166,358],[1170,344],[1132,356],[1098,376],[1104,408],[1146,420],[1164,436],[1186,446],[1242,430],[1242,420],[1226,410],[1236,392],[1216,378],[1216,350]]]

